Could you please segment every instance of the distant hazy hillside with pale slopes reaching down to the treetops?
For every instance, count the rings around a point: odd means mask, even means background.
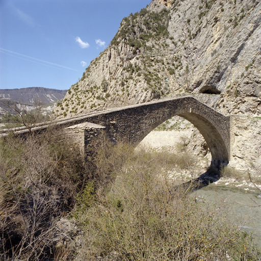
[[[28,105],[28,109],[34,108],[35,101],[41,101],[43,105],[54,103],[64,98],[67,90],[48,89],[43,87],[29,87],[21,89],[0,90],[0,113],[11,112],[13,102]],[[48,111],[52,110],[53,106]],[[47,108],[48,109],[48,108]]]

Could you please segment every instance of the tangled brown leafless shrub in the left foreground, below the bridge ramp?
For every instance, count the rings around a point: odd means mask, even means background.
[[[82,155],[53,130],[0,141],[0,259],[43,260],[63,239],[56,227],[88,180]]]

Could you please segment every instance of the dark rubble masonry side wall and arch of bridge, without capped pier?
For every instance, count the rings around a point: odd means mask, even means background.
[[[229,161],[229,117],[219,114],[192,97],[147,102],[105,111],[90,115],[88,120],[106,126],[106,132],[112,139],[117,140],[120,136],[137,144],[152,129],[175,115],[188,119],[199,129],[211,150],[213,163]]]

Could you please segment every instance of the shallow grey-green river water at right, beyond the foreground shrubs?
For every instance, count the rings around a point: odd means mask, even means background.
[[[191,196],[209,203],[224,203],[228,221],[251,232],[254,241],[261,247],[261,206],[256,206],[261,205],[261,192],[256,188],[210,184]]]

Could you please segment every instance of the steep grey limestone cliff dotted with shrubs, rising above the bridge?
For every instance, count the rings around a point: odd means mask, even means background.
[[[257,0],[153,0],[122,20],[55,113],[200,94],[221,113],[259,115],[260,23]]]

